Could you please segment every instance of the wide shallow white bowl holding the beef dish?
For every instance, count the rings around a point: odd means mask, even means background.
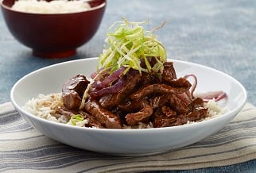
[[[11,102],[30,125],[46,136],[76,148],[118,156],[151,155],[193,144],[222,129],[246,104],[246,90],[231,76],[199,64],[173,60],[178,76],[197,76],[197,92],[225,91],[229,111],[190,125],[156,129],[91,129],[47,121],[22,109],[25,102],[38,94],[60,93],[63,83],[72,76],[80,73],[89,76],[95,71],[97,62],[97,58],[73,60],[33,71],[15,83],[10,93]]]

